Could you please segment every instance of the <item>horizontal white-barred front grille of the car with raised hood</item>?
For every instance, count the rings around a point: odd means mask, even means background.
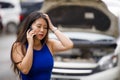
[[[97,67],[96,63],[55,62],[52,74],[84,76],[84,75],[92,74],[93,70],[96,67]]]

